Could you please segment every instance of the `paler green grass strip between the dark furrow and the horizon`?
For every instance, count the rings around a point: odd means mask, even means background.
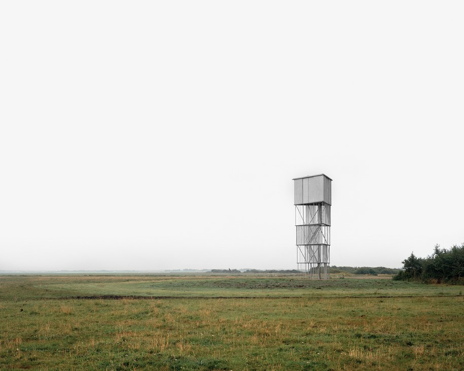
[[[57,275],[2,276],[0,299],[76,298],[81,296],[158,297],[342,297],[460,295],[462,286],[425,285],[383,278],[301,280],[270,275]]]

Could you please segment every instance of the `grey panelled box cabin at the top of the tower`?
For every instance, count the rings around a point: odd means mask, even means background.
[[[295,205],[325,202],[332,205],[332,179],[325,174],[295,178]]]

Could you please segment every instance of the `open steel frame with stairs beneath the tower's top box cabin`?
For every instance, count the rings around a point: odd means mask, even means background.
[[[327,279],[330,265],[331,205],[295,205],[297,266],[302,278]]]

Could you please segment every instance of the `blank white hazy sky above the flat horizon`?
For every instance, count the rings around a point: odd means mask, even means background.
[[[0,270],[295,269],[464,241],[461,1],[5,1]]]

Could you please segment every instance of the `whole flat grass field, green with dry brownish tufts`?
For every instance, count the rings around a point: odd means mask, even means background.
[[[462,286],[0,276],[0,370],[462,370]]]

